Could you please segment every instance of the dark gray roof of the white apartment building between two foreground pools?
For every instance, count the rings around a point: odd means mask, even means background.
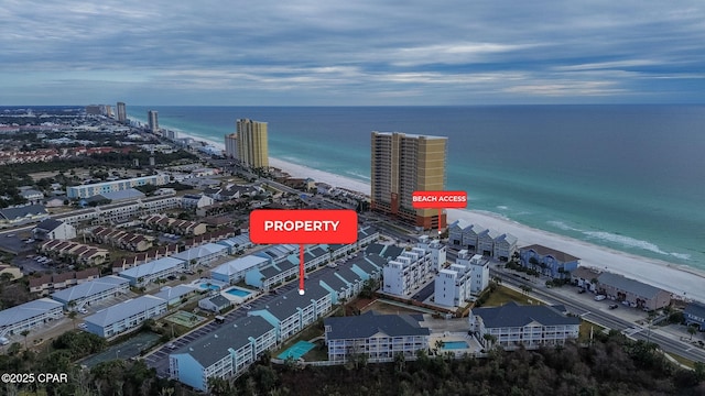
[[[369,311],[355,317],[326,318],[324,324],[329,331],[327,340],[349,340],[370,338],[377,333],[389,337],[430,336],[431,330],[421,327],[422,315],[379,315]]]

